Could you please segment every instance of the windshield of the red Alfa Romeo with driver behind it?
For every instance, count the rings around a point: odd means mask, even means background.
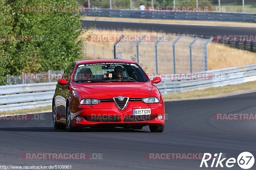
[[[89,63],[76,67],[73,82],[147,82],[148,76],[134,63]]]

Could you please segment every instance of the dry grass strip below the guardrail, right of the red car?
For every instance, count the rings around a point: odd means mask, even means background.
[[[247,82],[238,85],[226,85],[223,87],[212,87],[207,88],[204,90],[195,90],[189,92],[181,92],[181,93],[173,93],[173,94],[166,94],[164,96],[164,100],[168,99],[187,99],[187,98],[196,98],[196,97],[209,97],[209,96],[216,96],[220,94],[228,94],[233,92],[243,92],[245,90],[252,90],[255,89],[256,91],[256,82]]]

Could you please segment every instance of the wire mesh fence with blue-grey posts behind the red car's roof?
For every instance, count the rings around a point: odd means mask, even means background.
[[[207,45],[212,38],[179,36],[168,37],[167,41],[163,39],[164,36],[154,42],[119,41],[114,44],[114,58],[136,61],[147,73],[192,73],[207,70]]]

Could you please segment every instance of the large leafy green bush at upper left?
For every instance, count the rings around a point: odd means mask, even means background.
[[[81,54],[80,14],[25,12],[25,6],[78,6],[76,0],[0,1],[0,79],[7,74],[65,69]],[[6,41],[5,35],[28,41]],[[6,84],[1,81],[0,85]]]

